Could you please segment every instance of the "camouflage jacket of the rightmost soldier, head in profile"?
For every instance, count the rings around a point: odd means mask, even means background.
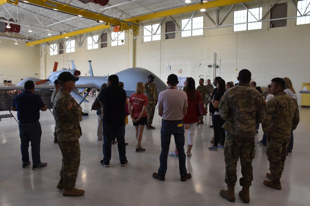
[[[267,103],[267,112],[262,128],[269,137],[290,138],[290,133],[299,123],[299,108],[296,99],[286,92],[278,93]],[[274,131],[270,131],[272,129]]]

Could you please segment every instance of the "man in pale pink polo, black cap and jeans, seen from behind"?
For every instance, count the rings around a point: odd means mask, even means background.
[[[178,83],[178,77],[175,74],[170,74],[167,79],[168,89],[159,93],[158,96],[158,114],[162,117],[160,132],[162,152],[159,156],[158,173],[154,172],[153,178],[160,181],[165,180],[171,135],[175,138],[175,145],[179,154],[181,181],[186,181],[192,177],[186,170],[186,155],[184,152],[183,117],[187,113],[187,95],[184,91],[177,89]]]

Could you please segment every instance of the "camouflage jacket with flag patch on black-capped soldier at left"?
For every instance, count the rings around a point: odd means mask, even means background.
[[[53,112],[59,141],[75,141],[81,137],[82,107],[63,89],[55,97]]]

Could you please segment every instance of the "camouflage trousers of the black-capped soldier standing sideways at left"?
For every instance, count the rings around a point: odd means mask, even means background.
[[[63,142],[58,140],[62,154],[60,177],[64,178],[64,187],[73,187],[77,180],[80,167],[81,150],[78,140]]]

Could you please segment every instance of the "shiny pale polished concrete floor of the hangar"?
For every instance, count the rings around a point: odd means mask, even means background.
[[[89,98],[92,102],[93,97]],[[76,187],[85,190],[82,197],[63,197],[56,188],[61,167],[58,144],[53,143],[54,119],[50,111],[41,112],[41,161],[47,167],[32,170],[22,168],[18,124],[14,119],[0,122],[0,205],[243,205],[238,197],[239,180],[235,187],[236,201],[228,202],[219,195],[226,188],[224,182],[224,150],[208,150],[213,130],[209,128],[211,116],[204,117],[205,124],[197,126],[192,157],[186,158],[192,179],[180,181],[178,158],[168,156],[166,181],[152,177],[159,167],[161,118],[155,112],[155,130],[144,130],[143,153],[135,153],[135,129],[126,125],[126,156],[128,164],[121,167],[117,145],[112,145],[110,167],[100,165],[102,141],[97,141],[97,116],[90,110],[91,103],[82,103],[81,165]],[[8,113],[8,112],[1,112]],[[16,116],[16,113],[13,113]],[[268,171],[266,147],[255,145],[253,160],[254,180],[250,187],[250,205],[310,205],[310,108],[300,108],[300,123],[294,131],[294,148],[286,158],[281,179],[282,190],[263,185]],[[7,123],[9,124],[7,124]],[[308,128],[308,129],[307,129]],[[259,129],[255,141],[261,140]],[[185,136],[187,139],[187,135]],[[308,149],[307,149],[308,148]],[[171,141],[170,151],[174,149]],[[185,141],[185,150],[187,141]],[[29,152],[31,152],[29,147]],[[308,159],[308,160],[307,160]],[[32,159],[30,158],[32,162]],[[308,163],[307,163],[308,162]],[[240,163],[237,177],[241,177]]]

